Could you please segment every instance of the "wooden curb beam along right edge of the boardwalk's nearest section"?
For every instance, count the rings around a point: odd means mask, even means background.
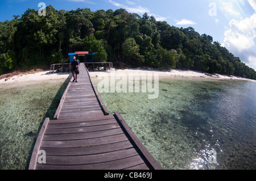
[[[139,138],[134,134],[133,131],[131,131],[131,128],[125,120],[123,120],[122,116],[119,112],[115,112],[115,116],[117,117],[117,120],[122,125],[122,127],[125,129],[127,134],[130,136],[131,140],[133,140],[134,144],[137,145],[139,151],[141,151],[142,155],[144,156],[144,159],[148,162],[148,164],[151,165],[152,169],[155,170],[163,170],[162,166],[155,160],[155,158],[149,153],[149,151],[146,149],[146,147],[142,144],[142,142],[139,140]]]

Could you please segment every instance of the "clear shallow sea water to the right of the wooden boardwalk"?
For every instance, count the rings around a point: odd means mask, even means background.
[[[164,169],[256,169],[256,82],[160,78],[157,99],[100,96]]]

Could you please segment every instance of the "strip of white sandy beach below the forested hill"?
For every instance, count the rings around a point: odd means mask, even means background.
[[[205,78],[205,79],[238,79],[238,80],[246,80],[246,81],[255,81],[247,78],[241,78],[236,76],[228,76],[228,75],[220,75],[220,74],[208,74],[200,71],[192,71],[192,70],[155,70],[155,69],[115,69],[115,73],[159,73],[159,77],[179,77],[179,78]],[[98,77],[98,75],[109,76],[109,71],[90,71],[91,77]],[[47,81],[54,79],[67,79],[69,77],[69,73],[54,73],[50,74],[49,70],[40,71],[38,73],[31,74],[19,74],[14,75],[13,77],[2,78],[0,79],[0,85],[13,85],[15,83],[24,83],[24,82],[34,82],[34,81]],[[79,77],[80,78],[80,77]],[[255,81],[256,82],[256,81]]]

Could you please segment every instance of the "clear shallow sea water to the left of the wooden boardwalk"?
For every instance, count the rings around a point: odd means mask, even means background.
[[[53,119],[69,79],[0,86],[0,169],[28,169],[44,119]]]

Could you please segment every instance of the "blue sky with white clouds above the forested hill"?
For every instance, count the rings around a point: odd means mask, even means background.
[[[0,21],[21,16],[27,9],[39,10],[40,2],[56,10],[123,8],[141,16],[147,12],[171,26],[191,26],[200,34],[212,36],[213,41],[256,70],[256,0],[1,0]]]

